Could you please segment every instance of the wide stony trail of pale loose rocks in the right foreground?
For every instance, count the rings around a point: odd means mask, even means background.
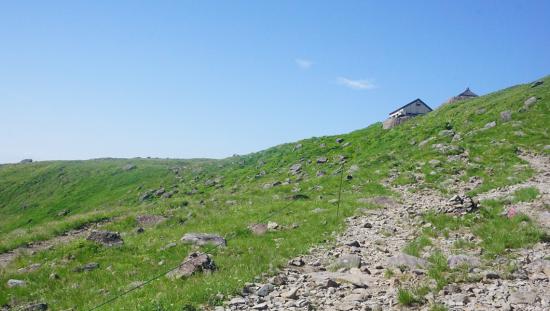
[[[543,156],[523,155],[537,171],[525,183],[480,195],[480,199],[502,198],[517,189],[537,187],[541,195],[533,202],[514,205],[519,212],[548,229],[547,215],[550,162]],[[459,186],[460,187],[460,186]],[[537,243],[529,249],[510,251],[507,257],[484,259],[482,250],[453,248],[457,240],[479,242],[468,228],[448,237],[432,238],[420,257],[403,253],[403,248],[432,224],[422,215],[473,212],[475,200],[463,195],[449,200],[435,191],[395,188],[402,202],[382,199],[384,208],[365,210],[347,219],[347,229],[331,245],[310,250],[263,283],[248,283],[242,295],[218,306],[222,310],[550,310],[550,249]],[[458,189],[464,193],[464,189]],[[546,205],[547,206],[547,205]],[[435,288],[427,257],[439,250],[451,268],[468,264],[468,282],[450,283],[437,293],[423,295],[422,303],[403,307],[400,288]],[[513,258],[513,259],[510,259]],[[510,261],[511,260],[511,261]],[[506,271],[506,266],[516,268]],[[435,309],[439,310],[439,309]]]

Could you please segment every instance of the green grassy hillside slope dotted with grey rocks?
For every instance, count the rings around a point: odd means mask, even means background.
[[[537,104],[523,109],[525,99],[533,95],[539,98]],[[357,203],[357,198],[391,195],[381,185],[390,175],[396,177],[397,184],[422,181],[423,186],[443,192],[449,191],[453,179],[468,180],[472,176],[483,179],[476,192],[525,180],[532,172],[522,165],[516,150],[548,152],[543,149],[550,141],[549,95],[550,79],[546,78],[537,88],[520,85],[443,106],[390,131],[374,124],[339,136],[349,146],[336,143],[336,137],[321,137],[300,141],[299,149],[296,144],[285,144],[220,161],[106,159],[0,166],[0,211],[4,216],[0,219],[0,250],[112,216],[120,218],[107,228],[123,232],[126,242],[121,248],[105,249],[78,240],[34,257],[22,257],[0,272],[0,286],[4,287],[0,291],[0,305],[42,299],[55,309],[90,307],[132,282],[146,280],[179,263],[190,251],[189,247],[160,249],[191,231],[235,236],[227,248],[214,251],[218,272],[186,281],[161,279],[116,301],[112,308],[172,310],[185,304],[212,302],[216,293],[233,293],[244,282],[283,264],[286,258],[330,239],[332,232],[341,228],[344,216],[365,207]],[[484,112],[480,113],[481,109]],[[504,110],[512,112],[512,121],[500,120],[500,112]],[[497,126],[477,131],[491,121],[496,121]],[[452,142],[451,137],[439,135],[451,128],[461,134],[461,140]],[[431,137],[434,139],[425,146],[418,145]],[[442,154],[432,147],[436,143],[467,150],[469,161],[447,161],[448,155],[458,152]],[[352,180],[345,182],[343,213],[337,218],[335,205],[328,201],[337,197],[339,155],[348,157],[346,169],[357,165],[359,170]],[[328,157],[329,162],[317,164],[319,156]],[[440,164],[430,164],[433,159],[440,160]],[[123,171],[121,168],[127,163],[137,168]],[[303,165],[306,175],[302,180],[288,173],[295,163]],[[175,174],[174,168],[180,173]],[[319,170],[327,175],[316,177]],[[265,175],[256,176],[261,171]],[[216,177],[220,177],[220,182],[208,185],[207,180]],[[286,178],[290,178],[291,184],[263,189],[266,183]],[[139,195],[145,190],[160,186],[179,192],[171,199],[139,202]],[[193,189],[196,194],[187,194]],[[281,210],[295,193],[305,194],[309,199],[296,201],[273,217],[287,226],[285,230],[262,237],[251,236],[245,230],[248,224]],[[236,203],[228,204],[228,200]],[[315,208],[326,211],[312,213]],[[70,214],[58,216],[63,210],[70,210]],[[170,219],[137,235],[133,233],[135,215],[144,213],[162,214]],[[292,224],[299,227],[290,229]],[[99,262],[101,268],[90,273],[72,272],[90,261]],[[161,261],[164,265],[158,264]],[[35,262],[43,263],[38,271],[17,272],[17,268]],[[61,279],[48,280],[50,273],[59,274]],[[5,283],[9,278],[27,280],[29,285],[7,289]]]

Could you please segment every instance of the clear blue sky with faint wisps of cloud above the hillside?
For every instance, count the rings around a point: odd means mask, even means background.
[[[549,56],[550,1],[2,1],[0,162],[244,154]]]

